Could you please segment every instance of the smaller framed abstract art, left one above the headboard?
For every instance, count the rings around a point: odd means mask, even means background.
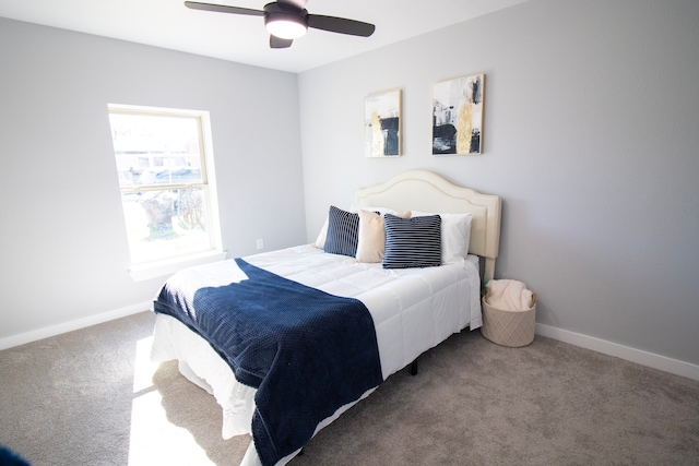
[[[364,98],[366,157],[398,157],[401,142],[401,89],[368,95]]]

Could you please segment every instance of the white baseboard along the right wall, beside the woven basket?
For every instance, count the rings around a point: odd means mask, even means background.
[[[699,380],[699,366],[689,362],[540,323],[536,324],[536,334],[648,366],[649,368]]]

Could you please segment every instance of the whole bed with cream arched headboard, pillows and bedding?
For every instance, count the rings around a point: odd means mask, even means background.
[[[347,252],[343,234],[353,228]],[[225,439],[252,434],[242,465],[283,465],[392,373],[481,326],[481,289],[494,276],[499,232],[497,195],[430,171],[402,172],[357,189],[346,211],[331,206],[312,244],[175,274],[154,302],[152,358],[177,359],[182,375],[216,398]],[[238,311],[241,302],[250,309]],[[287,325],[271,309],[317,303],[303,326],[297,314]],[[206,316],[229,307],[236,311]],[[263,344],[252,350],[241,340]]]

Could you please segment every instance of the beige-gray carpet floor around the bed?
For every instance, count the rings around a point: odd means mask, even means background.
[[[143,312],[0,351],[0,444],[33,465],[237,465],[214,398],[149,360]],[[699,465],[699,382],[537,336],[453,335],[292,465]]]

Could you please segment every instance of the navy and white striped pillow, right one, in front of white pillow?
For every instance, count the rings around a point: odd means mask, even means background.
[[[441,265],[441,217],[401,218],[386,214],[383,268]]]

